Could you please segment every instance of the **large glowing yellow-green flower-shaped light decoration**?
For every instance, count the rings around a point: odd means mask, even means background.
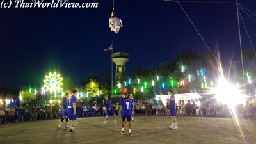
[[[60,77],[60,74],[57,74],[57,72],[54,72],[53,74],[50,72],[49,76],[45,76],[44,80],[44,87],[46,90],[50,90],[50,92],[57,90],[60,90],[60,86],[63,84],[61,81],[63,80],[62,77]]]

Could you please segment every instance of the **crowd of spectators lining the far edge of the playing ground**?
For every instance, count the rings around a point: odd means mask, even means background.
[[[148,102],[143,100],[135,100],[134,102],[135,115],[136,116],[168,116],[170,115],[168,102],[163,104],[161,100],[155,102]],[[254,108],[254,110],[253,110]],[[116,116],[120,116],[119,102],[113,104],[113,109]],[[237,106],[237,111],[239,113],[244,113],[246,115],[252,115],[256,118],[256,109],[252,104],[246,103],[246,106]],[[106,116],[105,108],[102,104],[91,104],[86,106],[86,104],[78,103],[76,107],[77,117],[86,116]],[[203,100],[198,106],[195,100],[177,100],[176,103],[177,116],[217,116],[216,111],[218,111],[219,116],[226,116],[229,109],[225,104],[218,104],[211,100],[209,102]],[[22,118],[22,119],[20,119]],[[31,105],[26,104],[19,108],[16,105],[7,106],[5,109],[0,107],[0,124],[10,124],[18,121],[33,121],[33,120],[49,120],[61,118],[61,106],[60,104],[50,104],[43,105]]]

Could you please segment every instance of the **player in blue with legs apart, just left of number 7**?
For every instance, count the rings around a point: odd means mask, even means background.
[[[113,103],[112,103],[112,100],[108,99],[108,95],[105,95],[105,99],[104,100],[104,106],[105,106],[105,113],[106,113],[106,118],[105,118],[105,121],[104,121],[104,125],[107,124],[107,120],[108,120],[108,117],[109,116],[113,116],[114,118],[114,125],[116,125],[116,115],[113,111]]]

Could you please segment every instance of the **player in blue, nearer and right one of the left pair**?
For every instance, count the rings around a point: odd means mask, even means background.
[[[69,98],[69,104],[68,104],[68,118],[71,120],[71,127],[70,131],[71,133],[76,133],[74,129],[74,125],[76,124],[76,95],[77,90],[72,91],[72,96]]]

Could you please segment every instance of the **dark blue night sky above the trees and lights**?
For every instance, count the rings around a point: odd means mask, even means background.
[[[128,73],[134,66],[147,68],[170,61],[179,51],[207,50],[178,3],[116,0],[115,13],[124,25],[116,35],[108,28],[111,0],[69,1],[98,2],[98,8],[14,8],[15,0],[11,1],[9,9],[0,8],[0,88],[42,86],[45,74],[53,70],[62,77],[73,77],[77,84],[92,74],[100,76],[104,68],[111,68],[111,51],[104,51],[111,40],[113,52],[130,54],[125,65]],[[236,1],[220,1],[232,3],[180,4],[212,52],[220,49],[221,60],[227,65],[239,60]],[[256,13],[255,0],[239,4]],[[256,22],[240,12],[256,45]],[[252,46],[241,24],[246,49]]]

